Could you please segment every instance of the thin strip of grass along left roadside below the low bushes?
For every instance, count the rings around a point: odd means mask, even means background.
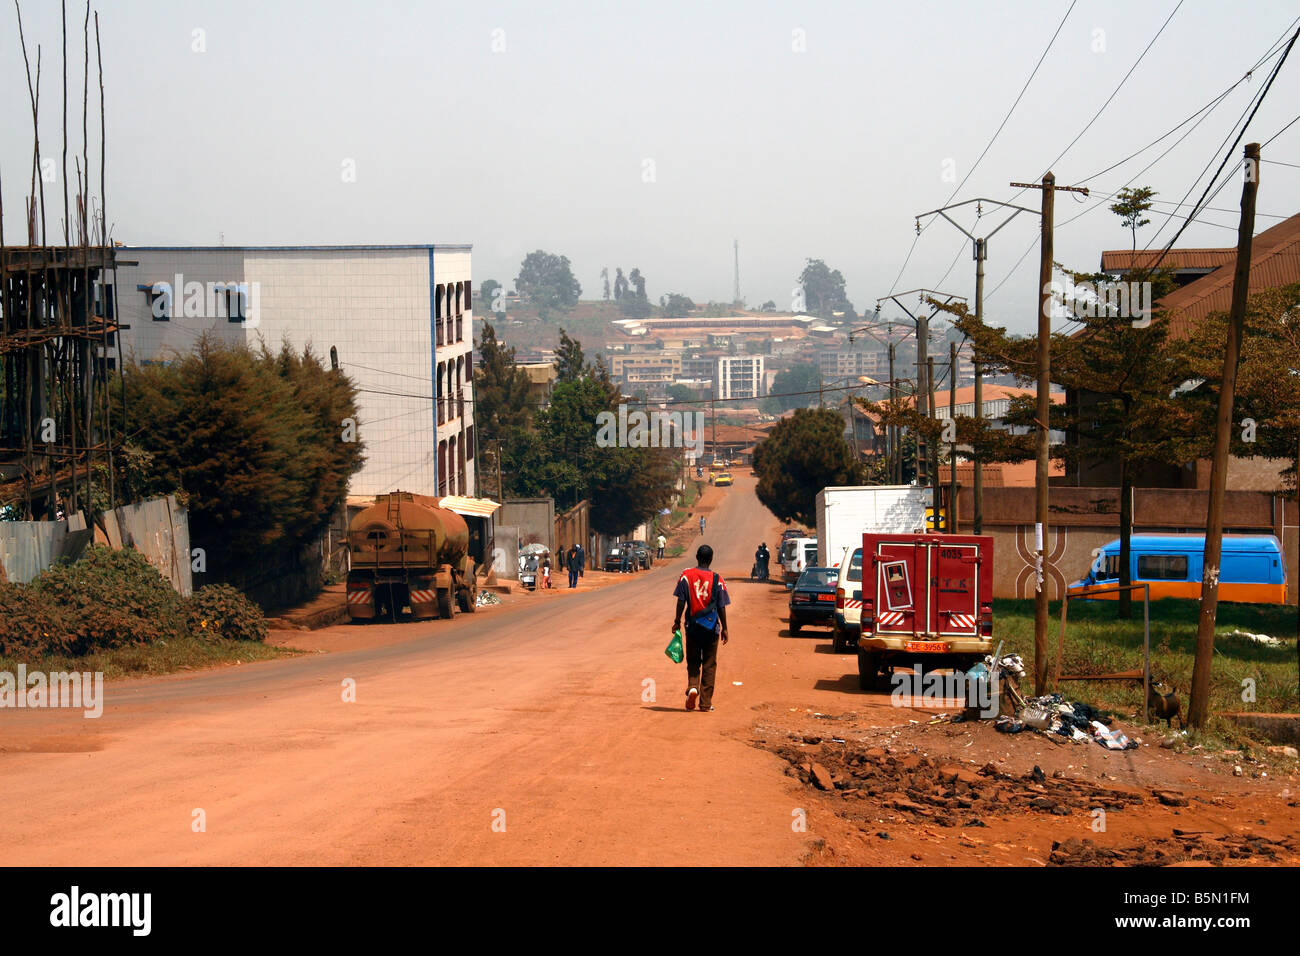
[[[156,676],[177,671],[200,670],[218,665],[270,661],[298,654],[287,648],[272,648],[259,641],[202,640],[176,637],[153,644],[130,644],[90,654],[69,657],[6,657],[0,656],[0,671],[16,672],[20,663],[29,671],[98,671],[105,680]]]

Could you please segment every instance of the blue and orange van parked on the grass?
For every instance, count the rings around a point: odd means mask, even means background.
[[[1201,596],[1204,535],[1134,535],[1128,574],[1134,584],[1150,585],[1150,600]],[[1070,585],[1072,594],[1092,587],[1119,584],[1119,538],[1101,548],[1088,576]],[[1131,592],[1141,597],[1140,591]],[[1118,592],[1095,600],[1114,601]],[[1282,545],[1273,535],[1225,535],[1219,558],[1219,600],[1252,604],[1286,604],[1287,570]]]

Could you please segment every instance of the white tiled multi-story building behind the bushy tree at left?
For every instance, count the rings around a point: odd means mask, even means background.
[[[185,354],[203,333],[311,345],[359,390],[365,464],[348,494],[474,493],[469,246],[138,246],[117,258],[127,360]]]

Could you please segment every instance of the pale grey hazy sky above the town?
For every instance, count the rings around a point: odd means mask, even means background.
[[[1139,233],[1139,246],[1152,242],[1202,168],[1217,168],[1225,137],[1277,57],[1148,172],[1139,176],[1191,124],[1096,174],[1236,82],[1295,29],[1294,0],[1078,0],[953,202],[1009,200],[1009,182],[1041,177],[1175,7],[1119,94],[1054,163],[1058,182],[1101,194],[1131,177],[1154,187],[1169,204]],[[109,220],[129,245],[216,245],[222,235],[226,245],[472,242],[476,285],[511,285],[523,255],[545,248],[572,260],[584,298],[599,297],[601,267],[612,276],[621,265],[641,268],[655,300],[680,291],[697,302],[732,298],[740,239],[741,293],[751,306],[774,299],[789,308],[810,256],[844,273],[859,312],[892,290],[974,297],[968,243],[942,221],[898,277],[915,215],[944,204],[970,172],[1069,8],[103,4]],[[56,163],[58,9],[23,3],[32,61],[35,44],[43,48],[43,153]],[[83,14],[69,5],[70,153],[81,152]],[[12,8],[0,8],[0,176],[12,243],[22,239],[31,135]],[[1294,51],[1243,142],[1264,142],[1294,120],[1297,94]],[[98,114],[92,139],[96,127]],[[98,143],[91,152],[96,161]],[[1264,157],[1300,165],[1300,122]],[[350,161],[354,182],[344,181]],[[1204,181],[1186,202],[1201,189]],[[61,234],[53,191],[47,183],[47,217]],[[1234,245],[1239,198],[1238,172],[1213,203],[1223,211],[1206,213],[1179,245]],[[1039,199],[1026,193],[1017,202],[1036,208]],[[1102,248],[1130,245],[1104,203],[1065,222],[1095,204],[1058,195],[1058,260],[1096,268]],[[1258,208],[1300,212],[1300,168],[1266,164]],[[984,229],[1000,221],[985,209]],[[1257,232],[1277,221],[1261,215]],[[974,211],[963,222],[974,224]],[[1036,232],[1037,217],[1020,215],[992,241],[989,321],[1031,326],[1036,250],[1011,271]]]

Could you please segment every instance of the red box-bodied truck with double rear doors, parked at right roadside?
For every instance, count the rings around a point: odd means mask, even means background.
[[[993,653],[993,538],[862,536],[863,691],[893,667],[966,670]]]

